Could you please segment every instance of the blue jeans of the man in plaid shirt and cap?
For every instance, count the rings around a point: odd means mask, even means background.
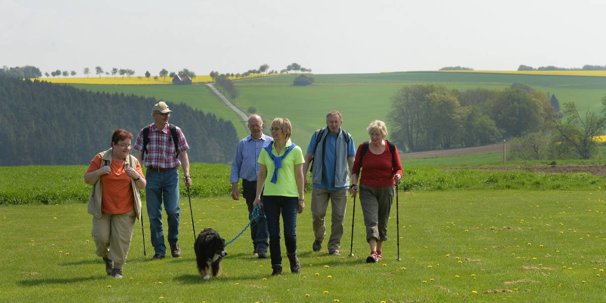
[[[150,218],[150,238],[156,254],[164,256],[164,229],[162,228],[162,200],[168,221],[168,243],[176,244],[179,239],[179,169],[162,171],[148,169],[145,174],[145,196],[147,216]]]

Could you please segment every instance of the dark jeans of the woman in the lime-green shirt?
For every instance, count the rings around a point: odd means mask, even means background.
[[[297,252],[298,197],[263,196],[263,208],[267,216],[271,265],[282,265],[280,250],[280,213],[284,220],[284,244],[288,255]]]

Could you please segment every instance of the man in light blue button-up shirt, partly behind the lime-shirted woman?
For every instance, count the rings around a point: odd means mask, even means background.
[[[264,145],[273,141],[270,136],[263,133],[263,119],[259,115],[251,115],[248,118],[248,129],[250,136],[240,140],[236,147],[236,154],[231,161],[231,198],[234,200],[240,199],[238,191],[238,179],[242,179],[242,196],[246,199],[248,205],[248,219],[251,219],[253,211],[253,202],[257,190],[257,175],[259,174],[259,154]],[[265,216],[259,216],[258,222],[250,224],[250,238],[253,240],[253,246],[259,259],[267,258],[267,221]]]

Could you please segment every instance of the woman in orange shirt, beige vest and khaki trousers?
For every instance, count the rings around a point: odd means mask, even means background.
[[[93,185],[88,213],[93,215],[96,254],[114,278],[122,278],[135,218],[141,218],[139,190],[145,188],[141,165],[129,155],[132,138],[126,130],[114,130],[112,148],[98,153],[84,174],[84,182]]]

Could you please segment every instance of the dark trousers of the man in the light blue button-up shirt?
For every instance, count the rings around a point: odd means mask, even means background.
[[[256,193],[257,181],[242,179],[242,196],[246,199],[246,205],[248,206],[248,220],[252,219],[253,202],[255,202]],[[250,238],[253,241],[255,251],[267,251],[267,247],[269,246],[267,242],[268,236],[267,220],[265,220],[265,214],[263,208],[261,208],[261,211],[259,211],[259,220],[250,224]]]

